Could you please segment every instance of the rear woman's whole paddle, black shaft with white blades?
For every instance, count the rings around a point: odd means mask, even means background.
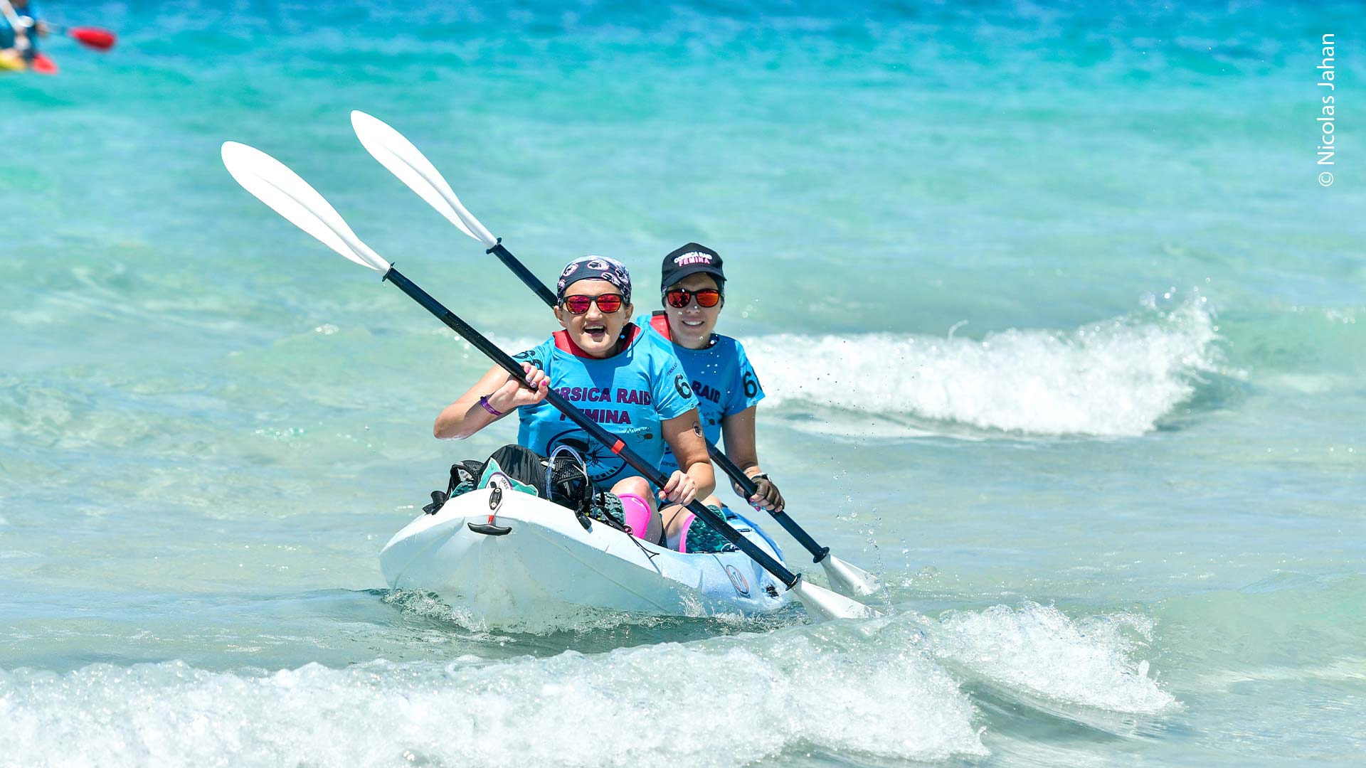
[[[548,306],[555,306],[555,294],[541,283],[520,261],[516,260],[505,247],[503,247],[501,241],[494,238],[489,230],[479,223],[478,219],[470,213],[464,205],[460,204],[460,198],[455,197],[451,190],[451,184],[447,183],[441,172],[436,169],[422,154],[422,152],[413,145],[407,138],[399,131],[393,130],[388,123],[366,115],[365,112],[351,112],[351,127],[355,128],[355,135],[365,145],[365,149],[380,161],[381,165],[389,169],[395,176],[399,178],[404,184],[413,191],[418,193],[418,197],[425,200],[428,205],[434,208],[437,213],[444,216],[447,221],[452,223],[466,235],[484,243],[489,253],[493,253],[507,264],[508,268],[516,273],[518,277],[526,283],[537,295],[541,297]],[[740,467],[735,466],[725,454],[723,454],[716,445],[706,444],[708,452],[725,474],[731,477],[740,488],[744,489],[746,497],[754,495],[754,482],[744,476]],[[843,594],[850,597],[866,597],[874,594],[881,584],[877,577],[865,571],[863,568],[846,563],[844,560],[831,555],[829,547],[821,547],[811,538],[806,530],[802,529],[787,515],[787,512],[769,512],[773,518],[787,530],[792,538],[796,538],[807,552],[811,553],[816,563],[820,563],[825,568],[826,578],[831,579],[831,586]]]

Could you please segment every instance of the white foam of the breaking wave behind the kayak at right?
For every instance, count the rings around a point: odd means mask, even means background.
[[[923,433],[923,422],[896,424],[910,418],[1120,437],[1153,430],[1194,394],[1198,376],[1214,369],[1217,338],[1197,297],[1171,312],[1147,307],[1072,331],[1011,329],[981,340],[870,333],[744,343],[769,395],[765,406],[867,417],[832,415],[831,429]]]

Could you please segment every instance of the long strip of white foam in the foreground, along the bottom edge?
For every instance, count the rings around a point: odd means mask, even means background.
[[[182,663],[0,672],[23,765],[738,765],[785,750],[982,756],[975,709],[918,649],[841,629],[448,664]]]

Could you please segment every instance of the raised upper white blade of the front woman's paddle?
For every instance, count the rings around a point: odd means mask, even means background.
[[[322,245],[361,266],[381,273],[389,271],[389,262],[362,243],[342,215],[284,163],[260,149],[228,141],[223,143],[223,164],[242,189]]]

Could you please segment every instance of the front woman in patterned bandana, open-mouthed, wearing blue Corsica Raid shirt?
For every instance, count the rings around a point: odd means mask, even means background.
[[[616,260],[571,261],[556,299],[564,329],[516,355],[533,388],[494,366],[437,415],[433,433],[464,439],[516,409],[520,445],[542,456],[559,445],[579,450],[594,484],[622,499],[631,532],[660,541],[660,512],[646,480],[608,447],[591,444],[545,396],[553,387],[647,462],[658,465],[665,451],[678,456],[658,497],[688,504],[716,484],[688,379],[669,344],[630,321],[631,276]]]

